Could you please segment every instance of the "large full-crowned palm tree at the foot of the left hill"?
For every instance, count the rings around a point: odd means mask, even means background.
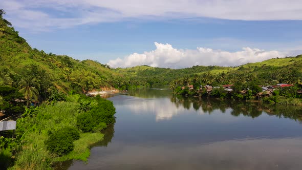
[[[39,88],[40,84],[32,77],[21,78],[21,81],[19,82],[19,92],[24,94],[24,98],[27,100],[27,107],[29,106],[31,99],[38,99],[39,92],[36,87]]]

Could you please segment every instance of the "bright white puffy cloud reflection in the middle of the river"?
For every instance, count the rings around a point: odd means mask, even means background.
[[[131,110],[134,114],[154,114],[156,121],[169,120],[173,116],[178,114],[188,114],[188,110],[184,107],[175,107],[168,98],[156,98],[156,99],[133,99],[133,104],[124,105],[127,109]],[[190,109],[192,103],[190,103]],[[195,111],[197,114],[204,114],[202,110]]]

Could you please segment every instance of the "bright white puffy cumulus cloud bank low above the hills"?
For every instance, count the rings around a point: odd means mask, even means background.
[[[242,51],[229,52],[197,47],[195,50],[175,49],[169,44],[154,42],[156,49],[144,53],[133,53],[110,60],[111,67],[134,67],[148,65],[161,68],[187,68],[192,66],[240,66],[248,62],[259,62],[270,58],[284,57],[279,51],[242,48]]]

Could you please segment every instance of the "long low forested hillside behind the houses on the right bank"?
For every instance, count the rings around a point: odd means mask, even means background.
[[[183,86],[196,82],[213,86],[248,81],[253,81],[258,85],[300,83],[302,80],[302,55],[273,58],[238,67],[193,66],[185,69],[166,69],[136,66],[114,70],[125,77],[144,80],[150,85],[168,84],[172,81],[177,81]]]

